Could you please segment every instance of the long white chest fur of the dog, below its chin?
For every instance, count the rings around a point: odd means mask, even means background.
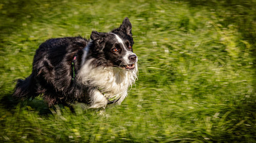
[[[93,85],[101,93],[104,93],[105,99],[101,99],[104,100],[102,102],[105,102],[106,99],[119,98],[117,103],[120,104],[127,95],[127,89],[137,78],[137,64],[135,64],[134,70],[127,71],[116,67],[94,67],[91,64],[92,60],[88,60],[81,67],[77,77],[83,84]]]

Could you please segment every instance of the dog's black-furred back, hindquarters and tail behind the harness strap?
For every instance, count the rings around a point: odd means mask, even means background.
[[[82,49],[87,43],[81,37],[55,38],[42,43],[34,55],[32,74],[25,80],[17,80],[13,96],[34,98],[44,94],[49,105],[60,102],[59,98],[67,96],[63,93],[67,93],[75,82],[70,80],[74,55],[77,56],[74,69],[78,71]]]

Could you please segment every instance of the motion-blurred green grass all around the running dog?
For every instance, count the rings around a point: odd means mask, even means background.
[[[0,2],[0,142],[256,142],[256,1]],[[124,17],[139,79],[121,105],[76,115],[11,99],[49,38],[89,38]],[[48,112],[48,113],[46,113]]]

